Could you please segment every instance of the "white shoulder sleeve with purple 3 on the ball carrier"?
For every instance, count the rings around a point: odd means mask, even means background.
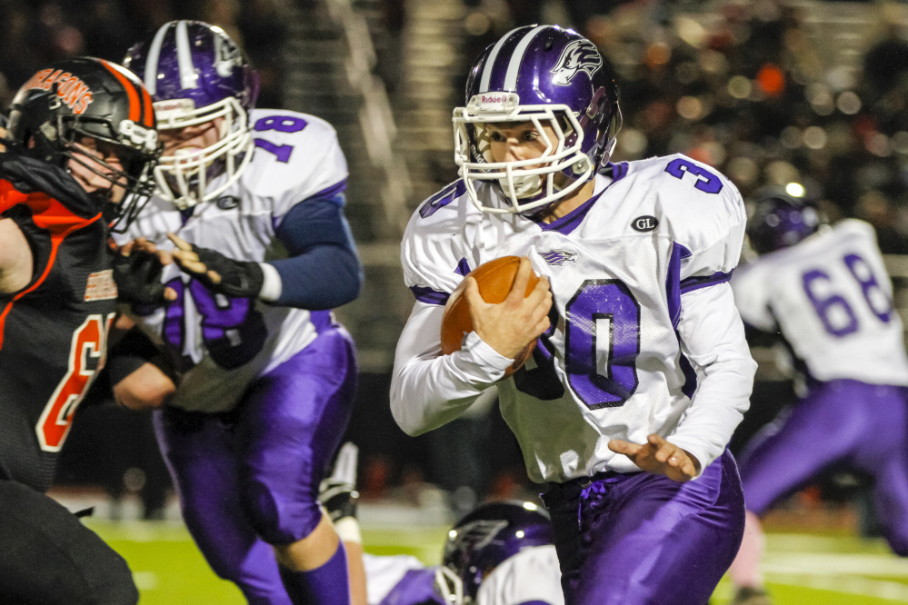
[[[747,220],[741,193],[706,164],[681,154],[667,159],[660,197],[681,256],[681,293],[727,282]]]

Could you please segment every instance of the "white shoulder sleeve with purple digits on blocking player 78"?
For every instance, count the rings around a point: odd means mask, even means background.
[[[252,189],[273,199],[275,228],[297,203],[344,192],[347,164],[334,127],[309,114],[255,110]],[[342,198],[343,199],[343,198]]]

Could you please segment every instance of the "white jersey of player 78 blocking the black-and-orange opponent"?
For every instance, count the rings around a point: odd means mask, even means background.
[[[167,233],[173,232],[237,261],[284,257],[275,239],[284,215],[318,193],[343,189],[344,154],[334,128],[313,115],[256,109],[250,124],[253,158],[218,199],[199,203],[184,220],[173,203],[155,196],[128,231],[115,236],[117,243],[144,236],[172,250]],[[186,410],[231,409],[249,382],[304,349],[315,338],[315,324],[327,321],[328,312],[213,295],[175,264],[165,267],[162,282],[175,288],[178,300],[137,319],[182,353],[186,372],[173,405]]]

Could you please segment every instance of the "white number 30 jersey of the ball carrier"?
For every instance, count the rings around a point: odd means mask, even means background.
[[[643,443],[653,432],[704,467],[722,453],[747,408],[755,367],[725,283],[743,243],[741,196],[722,174],[681,154],[615,164],[613,174],[598,175],[593,197],[550,224],[482,213],[460,181],[414,213],[401,255],[419,302],[398,344],[392,386],[404,431],[451,420],[509,364],[475,332],[461,351],[439,357],[441,313],[428,307],[440,309],[480,264],[527,255],[551,283],[552,328],[498,390],[530,478],[639,471],[608,441]],[[503,204],[497,187],[480,194]]]

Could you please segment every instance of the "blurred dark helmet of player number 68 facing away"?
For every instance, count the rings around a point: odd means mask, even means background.
[[[819,228],[820,217],[813,206],[772,188],[757,194],[747,238],[753,252],[766,254],[794,245]]]

